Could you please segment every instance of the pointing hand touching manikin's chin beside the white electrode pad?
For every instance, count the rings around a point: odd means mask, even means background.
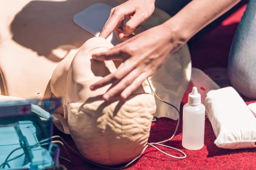
[[[99,37],[107,38],[113,31],[118,39],[126,40],[147,20],[155,9],[155,0],[128,0],[110,11]],[[128,20],[124,25],[124,21]],[[124,28],[123,28],[124,26]]]

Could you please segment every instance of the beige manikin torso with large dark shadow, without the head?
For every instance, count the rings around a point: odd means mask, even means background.
[[[112,0],[1,1],[1,94],[51,97],[49,81],[56,65],[68,55],[74,56],[86,40],[94,37],[72,19],[97,2],[117,5]]]

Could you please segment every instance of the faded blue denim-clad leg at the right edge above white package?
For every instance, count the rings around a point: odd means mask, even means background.
[[[238,25],[228,63],[232,86],[247,98],[256,98],[256,0],[250,0]]]

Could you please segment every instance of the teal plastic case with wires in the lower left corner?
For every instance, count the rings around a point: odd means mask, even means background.
[[[59,105],[60,99],[0,103],[0,170],[56,165],[60,149],[51,143],[52,112]]]

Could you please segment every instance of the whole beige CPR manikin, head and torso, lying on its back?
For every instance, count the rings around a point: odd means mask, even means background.
[[[8,96],[63,97],[64,111],[61,108],[54,113],[54,124],[72,135],[86,158],[112,165],[130,161],[146,145],[155,100],[141,87],[127,100],[114,98],[109,102],[101,100],[109,86],[90,91],[89,86],[114,72],[117,64],[91,60],[92,53],[112,48],[112,44],[92,38],[92,34],[73,23],[74,15],[97,2],[118,5],[113,0],[1,3],[0,94],[4,97],[0,96],[0,101],[9,100]],[[155,22],[149,23],[161,24]],[[179,53],[176,58],[182,59],[179,68],[183,73],[189,55]]]

